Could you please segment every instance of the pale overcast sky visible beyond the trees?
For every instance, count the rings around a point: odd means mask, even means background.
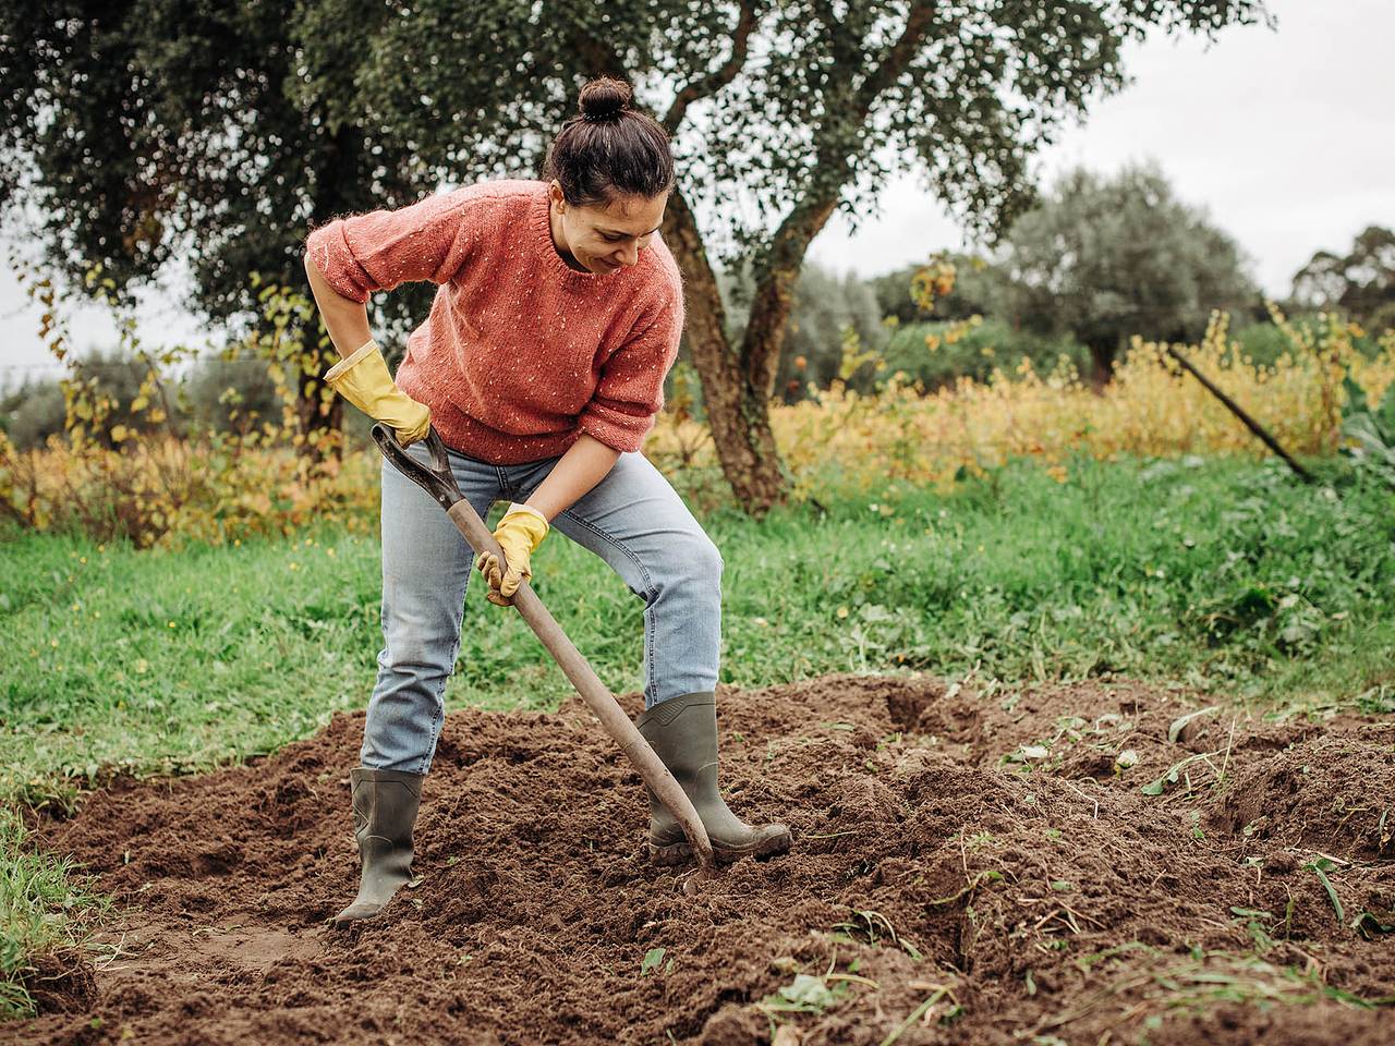
[[[1230,28],[1209,49],[1194,38],[1130,45],[1133,85],[1096,100],[1036,169],[1045,185],[1084,165],[1112,173],[1154,158],[1177,197],[1204,208],[1253,259],[1272,294],[1315,250],[1345,251],[1367,225],[1395,226],[1395,3],[1269,0],[1278,31]],[[872,276],[961,245],[960,230],[914,179],[882,195],[854,233],[840,216],[809,258]],[[199,344],[205,333],[170,290],[140,312],[145,344]],[[0,388],[56,367],[38,338],[39,310],[0,280]],[[114,344],[100,310],[70,321],[74,344]]]

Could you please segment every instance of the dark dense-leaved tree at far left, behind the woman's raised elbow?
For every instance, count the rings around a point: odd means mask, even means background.
[[[128,303],[172,258],[190,264],[184,303],[234,338],[271,333],[248,282],[303,286],[311,225],[413,202],[435,187],[407,144],[381,127],[307,105],[315,91],[353,91],[361,32],[384,4],[325,21],[319,4],[254,0],[15,0],[0,7],[0,202],[43,215],[45,265],[70,287],[100,264]],[[398,333],[424,315],[431,287],[386,300]],[[338,428],[338,397],[321,409],[318,374],[335,353],[300,335],[304,431]],[[319,356],[322,353],[322,356]],[[307,441],[314,446],[315,441]]]

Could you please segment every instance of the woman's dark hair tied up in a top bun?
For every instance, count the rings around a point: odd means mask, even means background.
[[[561,183],[568,204],[608,204],[617,195],[651,199],[674,187],[668,135],[629,100],[622,79],[598,77],[582,88],[580,112],[562,124],[543,165],[543,177]]]

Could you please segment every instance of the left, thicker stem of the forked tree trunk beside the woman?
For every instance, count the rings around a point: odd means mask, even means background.
[[[727,340],[727,318],[702,233],[681,191],[664,212],[664,243],[686,285],[688,339],[702,379],[703,404],[721,471],[737,502],[764,515],[790,492],[790,481],[770,430],[769,399],[755,388]]]

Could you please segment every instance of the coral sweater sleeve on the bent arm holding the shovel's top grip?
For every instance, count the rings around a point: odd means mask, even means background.
[[[306,254],[338,293],[367,301],[413,280],[446,283],[460,269],[467,195],[427,197],[396,211],[336,218],[306,240]]]

